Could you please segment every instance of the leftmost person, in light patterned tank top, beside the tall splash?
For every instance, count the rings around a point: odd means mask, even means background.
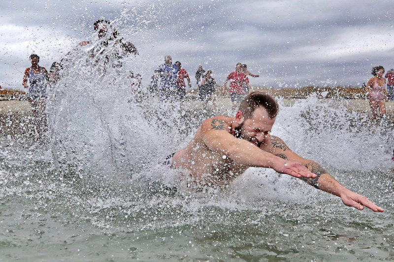
[[[45,103],[46,84],[49,80],[45,67],[38,65],[40,58],[33,54],[30,56],[31,67],[26,68],[22,85],[28,89],[28,99],[33,113],[35,137],[40,138],[46,129]],[[29,80],[30,87],[27,82]]]

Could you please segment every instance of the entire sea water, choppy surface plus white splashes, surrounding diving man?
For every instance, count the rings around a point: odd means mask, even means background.
[[[193,192],[161,163],[212,113],[132,91],[126,70],[103,74],[76,52],[49,90],[47,138],[0,140],[1,261],[394,260],[389,120],[373,130],[310,97],[279,100],[272,130],[384,213],[256,168],[227,189]]]

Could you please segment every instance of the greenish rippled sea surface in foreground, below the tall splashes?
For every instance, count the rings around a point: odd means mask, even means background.
[[[394,260],[391,169],[328,167],[386,209],[374,213],[258,169],[227,190],[171,196],[150,180],[59,170],[37,160],[45,146],[24,158],[2,146],[1,261]]]

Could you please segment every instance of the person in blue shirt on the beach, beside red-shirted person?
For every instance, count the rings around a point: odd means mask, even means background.
[[[155,73],[159,75],[159,92],[162,101],[172,101],[177,97],[177,77],[179,67],[172,64],[171,56],[164,57],[164,64],[160,65]]]

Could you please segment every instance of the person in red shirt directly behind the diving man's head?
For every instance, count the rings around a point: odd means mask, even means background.
[[[243,73],[241,63],[237,63],[235,66],[235,72],[231,72],[227,77],[223,85],[223,93],[227,88],[227,82],[230,80],[232,80],[230,83],[231,102],[233,104],[233,108],[236,108],[246,95],[245,86],[250,87],[249,78]]]

